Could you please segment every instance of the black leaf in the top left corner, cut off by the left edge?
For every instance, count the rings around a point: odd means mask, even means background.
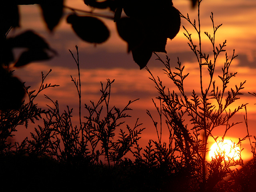
[[[1,2],[0,6],[0,33],[5,35],[11,27],[19,26],[19,10],[11,1]]]

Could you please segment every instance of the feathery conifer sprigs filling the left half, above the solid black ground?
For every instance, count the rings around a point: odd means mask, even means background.
[[[81,113],[81,78],[78,46],[76,46],[77,58],[70,51],[78,67],[78,78],[71,76],[74,82],[79,99],[79,126],[73,125],[73,108],[61,112],[58,101],[50,100],[53,106],[47,105],[48,110],[38,108],[34,104],[35,98],[46,88],[56,87],[56,84],[45,84],[47,76],[42,72],[42,83],[38,91],[29,91],[28,103],[23,101],[19,110],[0,111],[0,155],[7,156],[11,154],[21,154],[33,156],[35,158],[50,157],[52,160],[74,166],[105,166],[109,168],[117,167],[124,163],[126,154],[133,152],[140,134],[145,128],[140,128],[141,124],[136,120],[134,126],[124,126],[124,119],[131,117],[127,112],[132,110],[130,105],[136,100],[129,101],[128,104],[120,109],[116,106],[110,106],[111,86],[114,80],[107,80],[106,85],[100,82],[101,96],[97,102],[90,101],[84,107],[87,115],[82,122]],[[137,99],[138,100],[138,99]],[[44,115],[44,116],[42,116]],[[16,127],[24,125],[28,128],[29,120],[35,123],[35,120],[42,118],[43,124],[34,128],[30,132],[30,138],[26,137],[21,143],[7,142],[16,132]]]

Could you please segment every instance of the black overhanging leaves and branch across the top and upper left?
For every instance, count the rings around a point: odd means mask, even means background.
[[[118,34],[128,43],[134,61],[144,68],[152,52],[165,52],[167,38],[173,39],[180,30],[180,14],[172,0],[84,0],[85,6],[106,9],[113,16],[104,16],[76,10],[63,4],[63,0],[6,0],[0,6],[0,110],[16,109],[24,96],[24,87],[18,78],[12,76],[10,64],[21,67],[37,60],[52,58],[56,52],[32,30],[13,38],[7,38],[12,28],[20,27],[18,5],[38,4],[48,30],[53,31],[60,22],[63,9],[71,10],[67,22],[84,41],[100,44],[110,33],[99,17],[116,22]],[[196,0],[191,0],[192,6]],[[122,14],[124,12],[124,14]],[[25,48],[18,59],[14,58],[14,48]],[[10,102],[12,101],[12,102]]]

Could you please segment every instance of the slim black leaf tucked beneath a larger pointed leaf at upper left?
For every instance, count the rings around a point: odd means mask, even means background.
[[[23,52],[20,55],[20,58],[18,59],[14,66],[20,67],[29,64],[33,61],[47,60],[50,58],[52,58],[52,56],[49,56],[44,50],[30,49],[28,51]]]

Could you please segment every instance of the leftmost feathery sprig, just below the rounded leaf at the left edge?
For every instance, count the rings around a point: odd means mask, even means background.
[[[29,122],[35,124],[36,120],[42,119],[42,115],[47,115],[47,110],[42,110],[42,108],[38,108],[38,105],[34,103],[34,99],[38,96],[40,92],[45,90],[46,88],[56,87],[56,84],[45,84],[46,77],[50,74],[52,70],[50,70],[46,75],[42,72],[42,82],[38,91],[32,90],[30,91],[30,86],[24,86],[24,89],[28,95],[28,102],[23,100],[22,106],[18,110],[7,110],[0,111],[0,154],[1,155],[11,155],[11,154],[27,154],[29,150],[32,150],[34,146],[39,146],[42,143],[33,143],[28,140],[26,137],[21,143],[19,142],[7,142],[8,139],[15,136],[15,132],[17,132],[17,127],[24,125],[25,128],[28,128]],[[39,129],[41,127],[39,126]],[[36,135],[32,134],[32,137],[39,141],[42,139],[42,135],[38,132],[38,129],[35,128]],[[44,144],[42,145],[42,153],[46,154],[44,150]]]

